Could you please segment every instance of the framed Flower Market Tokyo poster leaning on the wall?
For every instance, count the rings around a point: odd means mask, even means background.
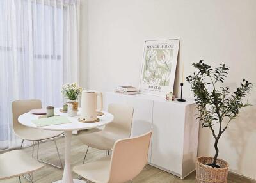
[[[140,93],[165,96],[173,92],[180,38],[146,40]]]

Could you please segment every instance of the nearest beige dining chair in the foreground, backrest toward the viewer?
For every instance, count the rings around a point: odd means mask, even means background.
[[[134,179],[147,164],[152,131],[116,141],[112,155],[74,166],[73,171],[95,183],[122,183]]]

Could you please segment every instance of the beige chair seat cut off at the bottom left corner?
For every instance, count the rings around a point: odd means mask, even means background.
[[[22,152],[21,150],[12,150],[4,154],[0,154],[0,180],[19,177],[28,174],[30,181],[33,182],[30,173],[43,168],[44,165]]]

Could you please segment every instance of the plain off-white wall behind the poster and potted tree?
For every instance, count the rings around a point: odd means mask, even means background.
[[[87,72],[81,74],[87,88],[106,92],[118,84],[138,86],[143,41],[173,37],[180,37],[175,94],[180,62],[188,75],[194,70],[191,63],[200,59],[213,66],[230,65],[225,84],[231,88],[243,78],[256,87],[255,0],[88,0],[87,13],[88,17],[81,17],[81,34],[88,28],[88,47],[81,47],[85,52],[88,48],[88,54],[81,56],[87,61]],[[192,97],[188,84],[184,96]],[[256,104],[255,88],[248,99]],[[220,158],[230,163],[232,171],[256,179],[255,142],[256,107],[252,106],[230,124],[220,141]],[[213,153],[211,133],[200,129],[198,155]]]

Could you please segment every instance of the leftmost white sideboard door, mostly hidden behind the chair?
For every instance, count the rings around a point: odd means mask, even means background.
[[[127,95],[120,95],[118,93],[108,92],[104,95],[103,102],[104,110],[108,110],[109,104],[124,104],[127,106]]]

